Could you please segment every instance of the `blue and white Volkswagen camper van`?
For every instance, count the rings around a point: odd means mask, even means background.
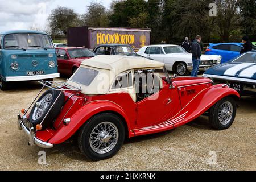
[[[1,90],[8,89],[10,82],[52,80],[59,76],[49,35],[28,30],[0,33]]]

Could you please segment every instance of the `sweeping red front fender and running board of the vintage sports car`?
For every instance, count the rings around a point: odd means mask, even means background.
[[[238,92],[228,87],[228,85],[220,84],[210,86],[201,90],[187,105],[183,107],[174,117],[168,119],[159,125],[134,130],[135,135],[146,135],[171,130],[176,127],[185,125],[188,122],[200,117],[214,104],[224,97],[240,98]]]

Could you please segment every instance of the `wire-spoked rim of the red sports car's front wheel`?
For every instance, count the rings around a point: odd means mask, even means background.
[[[218,111],[218,119],[222,125],[228,124],[233,115],[233,105],[231,102],[226,101],[220,106]]]

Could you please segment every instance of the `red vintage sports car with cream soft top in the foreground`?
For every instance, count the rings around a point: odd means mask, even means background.
[[[19,129],[43,148],[77,134],[81,152],[92,160],[115,155],[125,137],[175,129],[205,113],[214,129],[228,129],[240,98],[226,84],[170,78],[163,63],[133,56],[96,56],[67,82],[40,82],[49,89],[22,109]]]

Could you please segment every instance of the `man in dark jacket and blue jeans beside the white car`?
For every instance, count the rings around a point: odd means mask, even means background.
[[[201,61],[200,58],[202,55],[200,42],[201,42],[201,36],[197,35],[196,39],[191,44],[191,53],[192,53],[192,62],[193,62],[191,77],[197,77],[197,72],[199,70],[199,65]]]

